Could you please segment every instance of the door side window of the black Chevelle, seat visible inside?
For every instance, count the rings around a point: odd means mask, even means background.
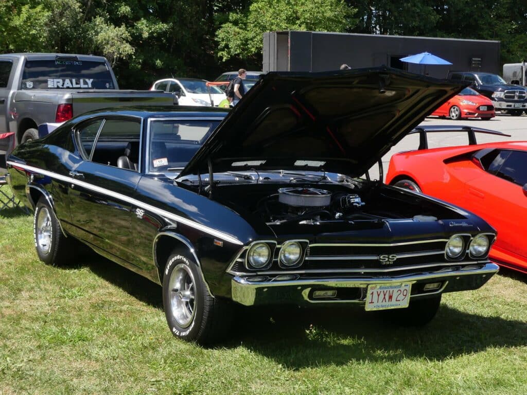
[[[135,119],[106,119],[96,139],[92,153],[92,162],[109,166],[118,166],[121,156],[131,163],[139,163],[139,141],[141,122]],[[128,169],[135,170],[132,167]]]

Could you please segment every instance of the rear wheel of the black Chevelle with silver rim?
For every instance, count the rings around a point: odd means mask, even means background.
[[[70,240],[62,233],[55,213],[44,196],[38,199],[35,206],[33,224],[38,259],[53,266],[69,262],[73,255]]]

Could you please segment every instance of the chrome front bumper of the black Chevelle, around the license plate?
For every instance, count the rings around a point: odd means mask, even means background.
[[[232,279],[232,300],[250,306],[258,304],[299,304],[314,303],[358,303],[365,304],[366,290],[370,284],[412,283],[411,298],[480,288],[497,273],[499,267],[489,261],[450,271],[412,273],[399,276],[341,276],[335,278],[314,278],[300,275],[295,280],[251,281],[250,276],[235,276]],[[424,291],[424,285],[441,283],[438,289]],[[336,291],[335,297],[315,297],[315,291]],[[319,294],[321,292],[318,292]]]

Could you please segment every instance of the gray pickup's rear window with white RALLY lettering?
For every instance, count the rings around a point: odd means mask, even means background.
[[[114,89],[104,62],[73,60],[27,61],[22,89]]]

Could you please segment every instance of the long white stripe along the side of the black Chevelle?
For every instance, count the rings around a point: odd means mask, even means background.
[[[29,170],[29,171],[32,171],[32,172],[35,172],[35,173],[40,173],[40,174],[43,174],[43,175],[47,175],[47,176],[52,177],[52,178],[57,179],[57,180],[61,180],[61,181],[64,181],[64,182],[69,182],[69,183],[72,183],[72,184],[75,184],[75,185],[79,185],[79,186],[82,186],[82,187],[84,187],[86,189],[92,190],[94,192],[99,192],[99,193],[102,193],[104,195],[115,197],[116,199],[122,200],[124,202],[128,202],[128,203],[130,203],[130,204],[132,204],[134,206],[138,206],[138,207],[140,207],[142,209],[145,209],[145,210],[150,211],[152,213],[164,216],[166,218],[170,218],[171,220],[174,220],[174,221],[177,221],[177,222],[181,222],[181,223],[183,223],[185,225],[191,226],[191,228],[198,229],[198,230],[200,230],[200,231],[202,231],[204,233],[211,234],[211,235],[216,236],[216,237],[218,237],[220,239],[226,240],[226,241],[228,241],[230,243],[243,245],[243,243],[241,241],[239,241],[238,239],[234,238],[233,236],[231,236],[231,235],[229,235],[227,233],[223,233],[223,232],[217,231],[215,229],[209,228],[209,226],[202,225],[202,224],[200,224],[198,222],[195,222],[195,221],[189,220],[187,218],[184,218],[182,216],[173,214],[173,213],[171,213],[169,211],[161,210],[161,209],[159,209],[159,208],[157,208],[155,206],[152,206],[150,204],[143,203],[143,202],[141,202],[139,200],[136,200],[136,199],[132,199],[129,196],[122,195],[122,194],[116,193],[116,192],[112,192],[112,191],[110,191],[108,189],[105,189],[105,188],[101,188],[100,186],[95,186],[95,185],[92,185],[92,184],[84,182],[84,181],[75,180],[75,179],[73,179],[71,177],[66,177],[66,176],[61,175],[61,174],[53,173],[53,172],[50,172],[50,171],[47,171],[47,170],[39,169],[38,167],[28,166],[28,165],[17,163],[17,162],[8,161],[7,164],[12,165],[14,167],[21,167],[22,169]]]

